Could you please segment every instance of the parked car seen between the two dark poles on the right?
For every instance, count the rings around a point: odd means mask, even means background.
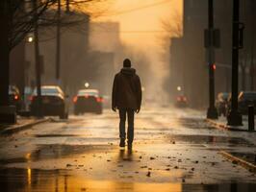
[[[218,115],[226,116],[227,108],[228,108],[228,98],[229,93],[227,92],[220,92],[218,93],[217,100],[216,100],[216,108],[218,109]]]

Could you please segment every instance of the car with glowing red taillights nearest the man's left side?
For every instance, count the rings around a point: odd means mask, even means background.
[[[97,89],[81,89],[73,98],[74,114],[85,112],[102,113],[103,98],[99,96]]]

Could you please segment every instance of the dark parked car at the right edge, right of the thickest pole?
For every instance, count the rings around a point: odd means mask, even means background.
[[[248,106],[254,106],[254,110],[256,111],[256,91],[242,91],[239,94],[238,98],[239,102],[239,111],[242,114],[248,113]]]

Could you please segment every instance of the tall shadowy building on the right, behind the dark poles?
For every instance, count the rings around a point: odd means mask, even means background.
[[[231,89],[232,62],[232,0],[215,0],[215,28],[220,30],[220,48],[216,49],[216,93]],[[241,1],[241,22],[244,22],[243,55],[251,58],[252,30],[255,28],[256,2]],[[253,20],[253,18],[255,18]],[[254,22],[253,22],[254,21]],[[177,85],[181,85],[192,107],[207,107],[209,98],[209,76],[206,49],[204,48],[204,30],[208,28],[208,1],[185,0],[183,15],[183,36],[171,38],[170,46],[170,92],[178,94]],[[255,50],[253,51],[256,55]],[[247,87],[248,85],[246,85]]]

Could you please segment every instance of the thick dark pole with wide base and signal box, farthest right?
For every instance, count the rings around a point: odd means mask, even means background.
[[[238,110],[239,89],[239,49],[243,48],[243,24],[240,19],[240,0],[233,0],[233,27],[232,27],[232,97],[231,110],[227,116],[230,126],[243,125],[242,114]],[[242,27],[240,27],[242,26]]]

